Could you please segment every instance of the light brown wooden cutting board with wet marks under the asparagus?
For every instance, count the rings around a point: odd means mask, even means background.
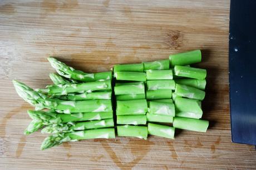
[[[231,142],[228,86],[229,1],[1,1],[0,169],[245,169],[254,146]],[[40,151],[46,135],[24,136],[33,109],[14,91],[18,79],[51,84],[46,58],[87,72],[117,63],[166,59],[202,49],[208,70],[203,119],[207,133],[64,143]]]

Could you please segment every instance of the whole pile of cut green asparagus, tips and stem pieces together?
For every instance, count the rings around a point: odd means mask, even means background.
[[[117,136],[146,140],[148,135],[174,139],[175,128],[206,132],[209,126],[201,120],[206,70],[190,66],[201,61],[200,50],[115,65],[114,78],[112,71],[84,73],[53,57],[48,61],[58,73],[50,74],[53,85],[32,89],[13,80],[18,95],[35,106],[28,110],[32,121],[24,133],[41,129],[51,134],[41,150],[68,141],[115,138],[115,127]]]

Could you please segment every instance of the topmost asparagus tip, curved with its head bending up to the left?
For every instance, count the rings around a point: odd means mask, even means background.
[[[58,74],[68,79],[90,82],[96,80],[111,80],[112,78],[111,71],[88,74],[80,70],[75,70],[53,57],[48,58],[48,61],[51,63],[52,67],[56,69]]]

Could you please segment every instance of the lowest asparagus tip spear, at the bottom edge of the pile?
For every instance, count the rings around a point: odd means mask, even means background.
[[[98,128],[68,133],[57,133],[45,138],[41,145],[41,150],[46,150],[53,146],[61,145],[62,142],[88,140],[92,138],[115,138],[115,129]]]

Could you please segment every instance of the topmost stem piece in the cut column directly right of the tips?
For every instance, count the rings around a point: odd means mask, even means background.
[[[134,72],[143,72],[144,66],[140,64],[119,64],[114,65],[114,72],[116,71],[134,71]]]

